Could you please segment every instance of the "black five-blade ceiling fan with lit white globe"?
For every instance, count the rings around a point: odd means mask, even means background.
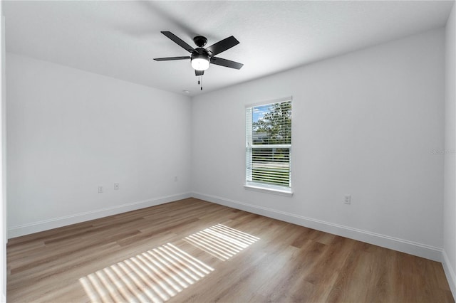
[[[177,43],[179,46],[187,50],[190,55],[184,57],[167,57],[167,58],[154,58],[155,61],[169,61],[169,60],[186,60],[190,59],[192,63],[192,68],[195,69],[195,75],[201,76],[204,75],[204,70],[209,68],[209,63],[224,66],[226,68],[235,68],[237,70],[241,69],[244,64],[234,62],[232,60],[227,60],[223,58],[215,57],[215,55],[222,53],[223,51],[232,48],[239,44],[234,36],[229,36],[228,38],[223,39],[212,46],[204,48],[207,43],[207,38],[203,36],[196,36],[193,38],[197,48],[192,48],[185,41],[182,41],[181,38],[177,37],[174,33],[170,31],[162,31],[163,35],[170,38],[172,41]]]

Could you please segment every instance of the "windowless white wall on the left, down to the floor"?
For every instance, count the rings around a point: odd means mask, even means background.
[[[190,196],[190,97],[13,53],[6,75],[9,238]]]

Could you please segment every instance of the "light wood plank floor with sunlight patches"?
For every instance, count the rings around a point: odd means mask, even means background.
[[[195,198],[7,252],[8,302],[454,302],[438,262]]]

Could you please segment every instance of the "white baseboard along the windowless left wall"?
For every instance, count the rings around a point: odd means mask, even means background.
[[[77,213],[71,216],[52,218],[49,220],[42,220],[38,222],[27,223],[24,225],[13,226],[11,228],[8,228],[8,238],[15,238],[21,235],[28,235],[30,233],[38,233],[43,230],[50,230],[52,228],[59,228],[65,225],[71,225],[88,220],[117,215],[118,213],[125,213],[127,211],[135,211],[140,208],[156,206],[159,204],[177,201],[190,197],[192,197],[191,193],[177,193],[175,195],[164,196],[160,198],[152,198],[149,200],[137,201],[133,203],[126,203],[120,206],[102,208],[95,211],[88,211],[86,213]]]

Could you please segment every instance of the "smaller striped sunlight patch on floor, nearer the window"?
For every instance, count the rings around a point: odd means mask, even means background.
[[[224,261],[257,242],[259,238],[223,224],[217,224],[189,235],[184,240]]]

